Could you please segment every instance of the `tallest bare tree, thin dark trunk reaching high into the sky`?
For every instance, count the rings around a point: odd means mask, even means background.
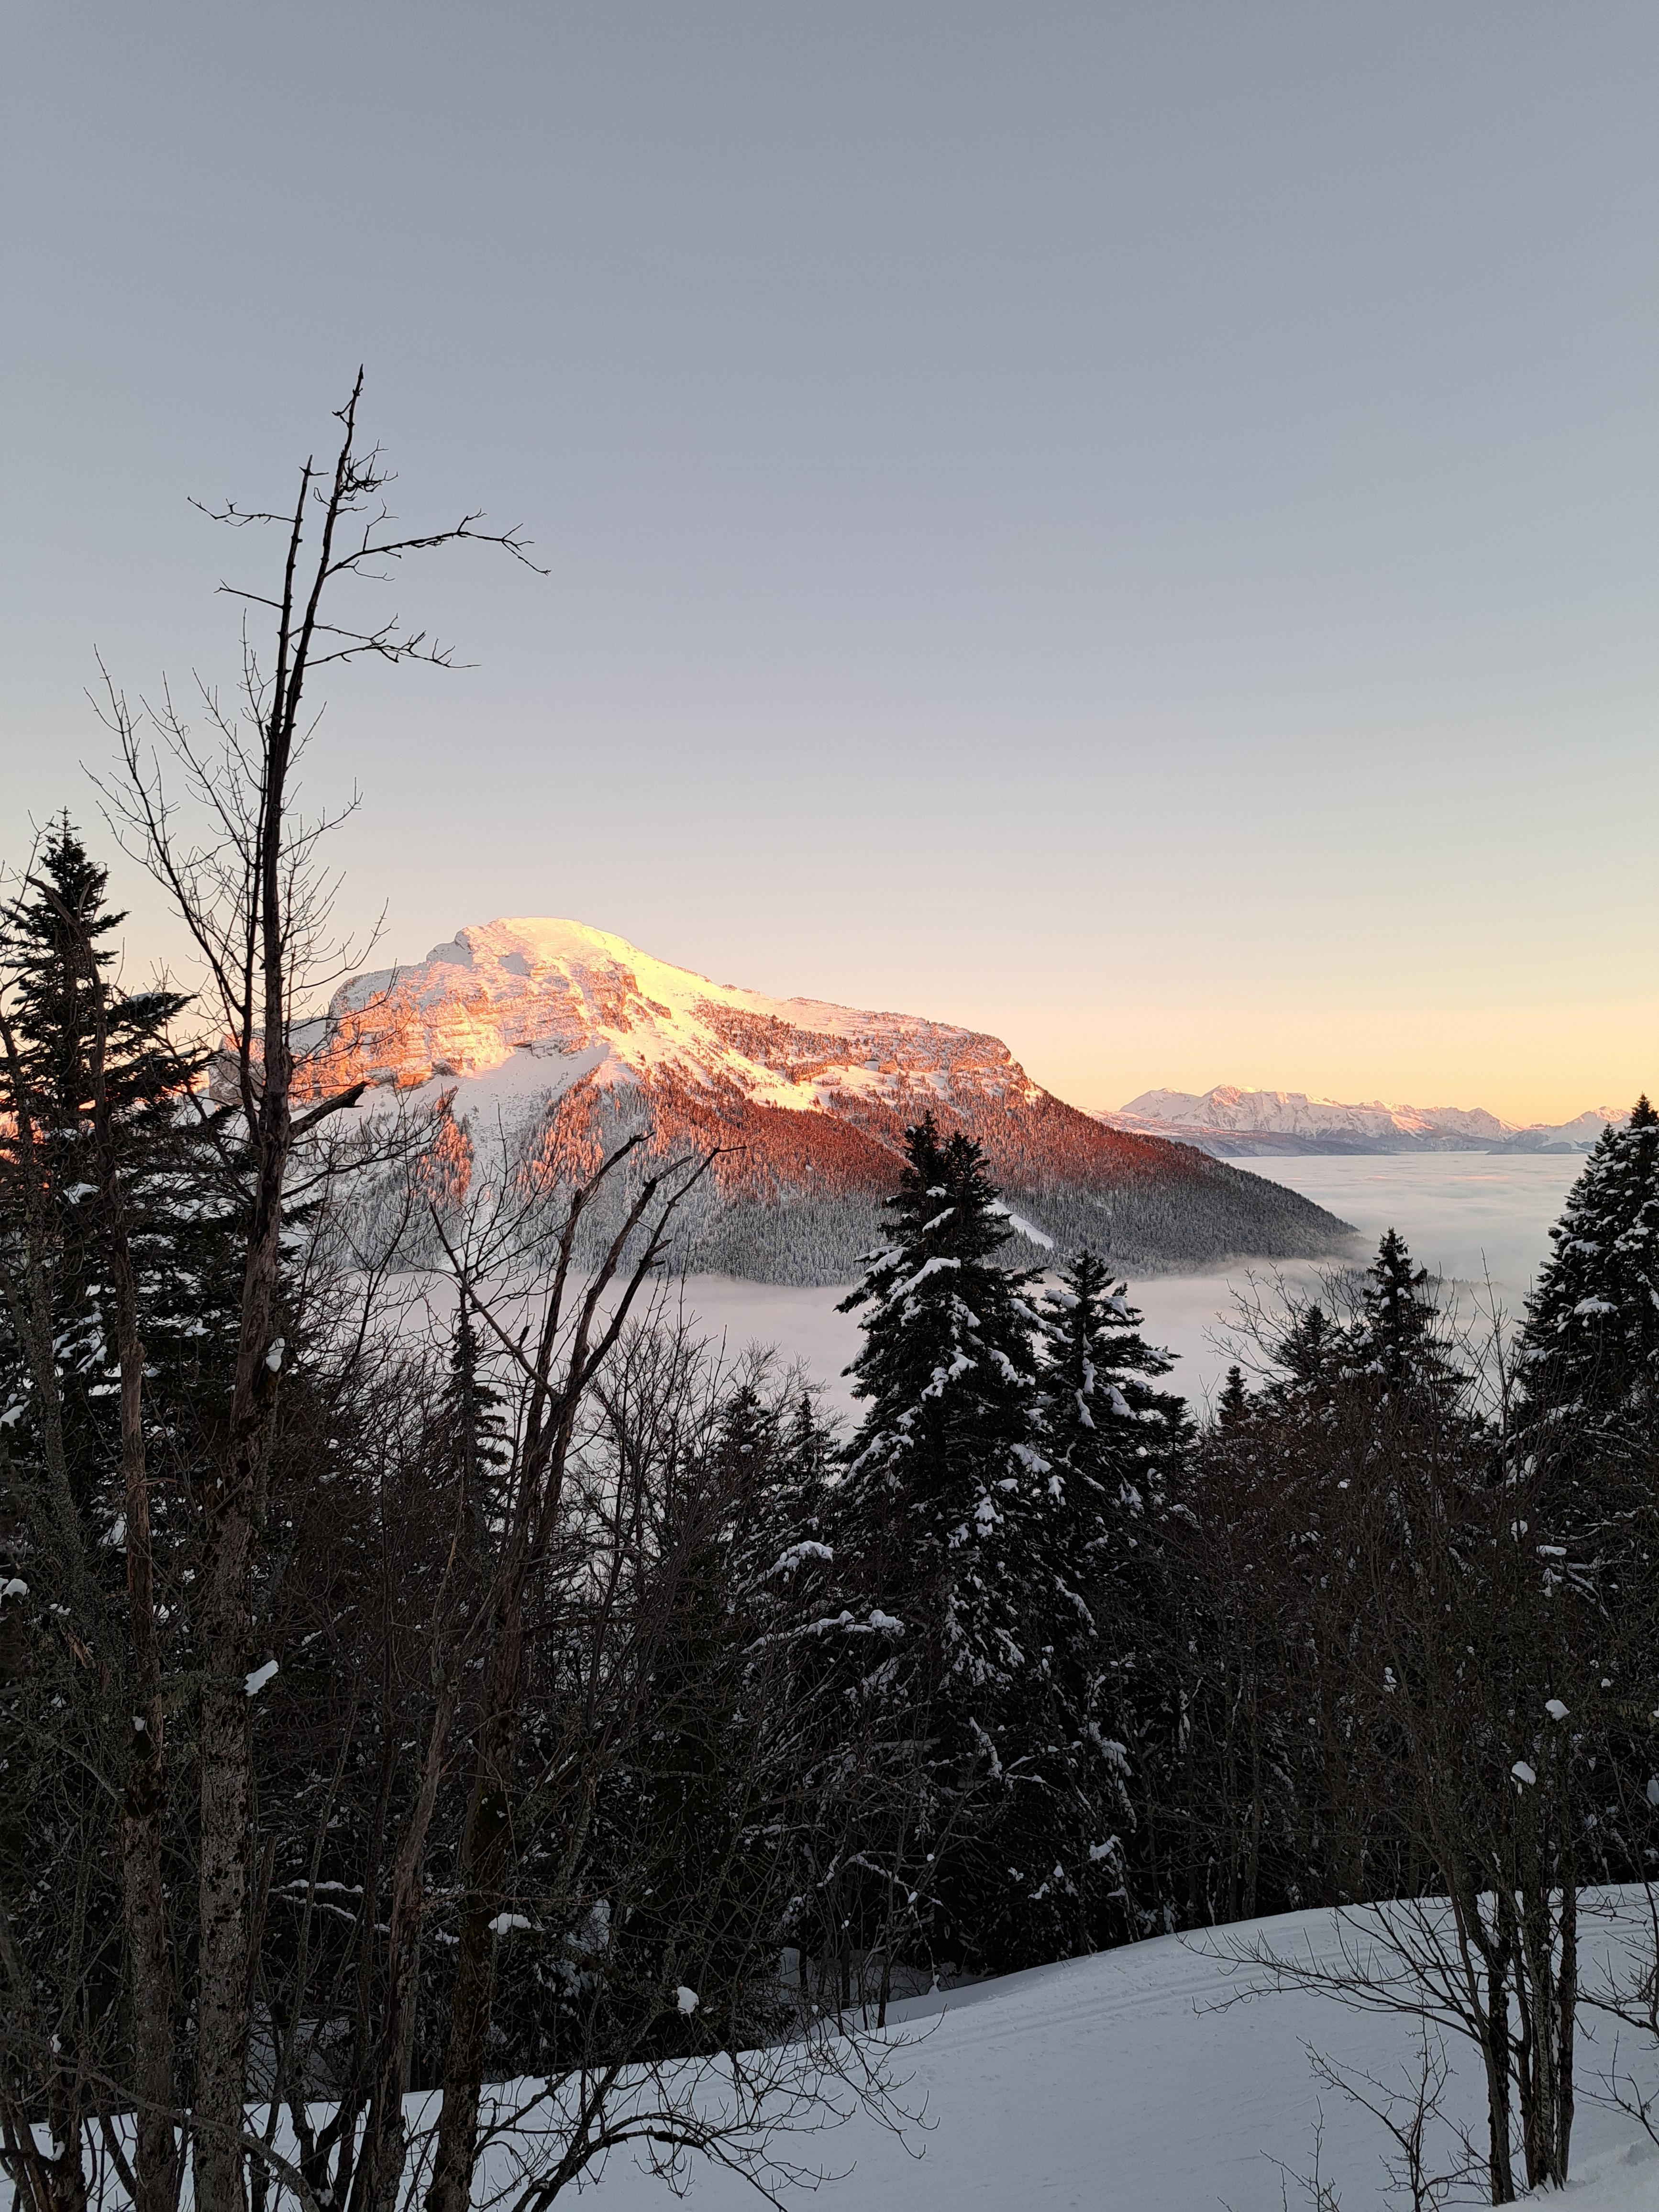
[[[111,816],[173,896],[204,962],[228,1035],[248,1152],[237,1363],[223,1447],[204,1486],[197,1584],[204,1666],[192,2119],[201,2212],[239,2212],[243,2203],[241,2106],[254,1951],[246,1679],[261,1475],[285,1349],[276,1327],[285,1199],[294,1148],[361,1095],[361,1086],[352,1086],[294,1110],[294,1020],[307,993],[356,964],[349,947],[327,938],[332,885],[319,872],[316,847],[332,821],[303,823],[292,805],[310,684],[323,668],[363,657],[449,664],[445,648],[422,630],[403,630],[396,617],[372,628],[341,624],[334,604],[343,584],[383,577],[387,564],[407,553],[467,540],[526,560],[518,531],[482,531],[478,515],[398,533],[385,507],[389,471],[376,447],[358,442],[361,396],[358,372],[338,411],[336,458],[332,467],[303,465],[292,509],[217,511],[217,520],[232,526],[276,526],[283,560],[274,591],[234,591],[272,619],[274,641],[270,657],[261,657],[243,630],[234,710],[204,690],[210,741],[192,734],[170,695],[159,708],[139,712],[128,710],[115,686],[106,697],[122,757],[119,779],[106,785]],[[168,770],[206,814],[206,841],[184,827]]]

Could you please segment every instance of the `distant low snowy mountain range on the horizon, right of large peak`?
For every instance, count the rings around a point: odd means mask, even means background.
[[[1303,1091],[1141,1091],[1108,1128],[1177,1137],[1219,1159],[1290,1152],[1588,1152],[1608,1121],[1601,1106],[1575,1121],[1500,1121],[1484,1106],[1343,1106]]]

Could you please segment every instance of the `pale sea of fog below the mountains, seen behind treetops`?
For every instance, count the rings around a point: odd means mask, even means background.
[[[1548,1256],[1548,1228],[1582,1168],[1579,1155],[1562,1152],[1365,1152],[1256,1161],[1252,1172],[1327,1206],[1352,1221],[1367,1245],[1383,1230],[1398,1228],[1427,1267],[1460,1285],[1464,1303],[1484,1301],[1491,1276],[1500,1303],[1520,1314],[1533,1274]],[[1287,1281],[1301,1287],[1312,1285],[1316,1272],[1285,1267]],[[1133,1285],[1148,1336],[1179,1354],[1172,1387],[1190,1398],[1214,1389],[1228,1365],[1230,1352],[1217,1338],[1234,1292],[1248,1287],[1248,1267],[1232,1267]],[[858,1318],[836,1312],[845,1290],[794,1290],[703,1274],[688,1281],[686,1296],[730,1352],[750,1343],[776,1345],[783,1358],[805,1360],[830,1385],[834,1405],[849,1407],[841,1369],[858,1349]]]

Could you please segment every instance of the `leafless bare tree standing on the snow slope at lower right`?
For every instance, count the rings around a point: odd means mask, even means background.
[[[1307,1491],[1303,1697],[1336,1717],[1321,1790],[1349,1832],[1345,1900],[1327,1955],[1217,1944],[1256,1986],[1464,2037],[1509,2203],[1517,2152],[1535,2188],[1568,2172],[1582,1783],[1617,1632],[1595,1577],[1555,1568],[1553,1467],[1511,1447],[1500,1332],[1471,1340],[1425,1298],[1394,1371],[1354,1321],[1323,1334],[1303,1312],[1281,1343],[1305,1371],[1270,1389],[1254,1444]]]

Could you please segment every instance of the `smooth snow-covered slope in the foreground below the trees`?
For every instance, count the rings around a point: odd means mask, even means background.
[[[1296,1913],[1225,1931],[1263,1931],[1276,1949],[1329,1949],[1332,1916]],[[1595,1958],[1606,1940],[1586,1929]],[[843,2174],[821,2212],[1281,2212],[1310,2203],[1287,2183],[1307,2172],[1323,2108],[1323,2174],[1345,2212],[1394,2203],[1383,2126],[1314,2079],[1307,2048],[1389,2081],[1411,2059],[1411,2026],[1352,2013],[1318,1993],[1281,1993],[1221,2008],[1237,1971],[1181,1938],[1130,1944],[1064,1966],[918,1997],[900,2037],[905,2101],[927,2124],[907,2143],[860,2119],[810,2148]],[[1568,2201],[1584,2212],[1659,2203],[1659,2152],[1635,2121],[1588,2101],[1608,2035],[1586,2013]],[[1473,2048],[1455,2044],[1449,2112],[1484,2132]],[[1641,2059],[1639,2064],[1648,2064]],[[1655,2068],[1648,2066],[1648,2073]],[[794,2143],[796,2154],[803,2150]],[[920,2154],[918,2154],[920,2152]],[[754,2194],[703,2170],[697,2212],[739,2212]],[[1469,2194],[1453,2201],[1471,2203]],[[597,2188],[599,2212],[668,2212],[670,2194],[630,2154]]]

